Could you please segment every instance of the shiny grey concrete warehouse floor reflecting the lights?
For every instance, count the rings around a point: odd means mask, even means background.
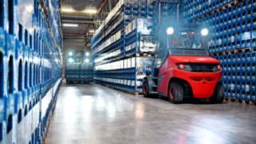
[[[63,84],[46,144],[255,143],[256,106],[174,105],[104,86]]]

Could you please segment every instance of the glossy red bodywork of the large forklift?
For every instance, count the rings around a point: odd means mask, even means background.
[[[179,70],[177,64],[180,63],[207,63],[219,64],[217,59],[209,56],[169,56],[159,70],[158,92],[168,96],[168,85],[171,78],[179,78],[190,84],[194,98],[210,98],[214,94],[214,89],[222,78],[222,70],[218,72],[189,72]]]

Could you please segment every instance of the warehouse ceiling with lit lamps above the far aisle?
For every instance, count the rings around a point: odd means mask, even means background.
[[[118,0],[62,0],[64,41],[90,44],[90,38],[94,34],[94,30],[106,18],[116,2]],[[66,24],[72,26],[64,26]]]

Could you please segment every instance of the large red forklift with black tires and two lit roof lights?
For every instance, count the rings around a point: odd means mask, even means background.
[[[198,26],[166,27],[158,42],[154,58],[154,73],[143,79],[144,97],[156,94],[170,102],[181,103],[185,98],[209,99],[222,103],[225,90],[222,68],[210,57],[207,45],[209,30]]]

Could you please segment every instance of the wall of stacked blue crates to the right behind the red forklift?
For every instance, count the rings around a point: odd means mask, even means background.
[[[226,98],[255,102],[256,2],[183,2],[186,22],[210,26],[210,52],[221,62]]]

